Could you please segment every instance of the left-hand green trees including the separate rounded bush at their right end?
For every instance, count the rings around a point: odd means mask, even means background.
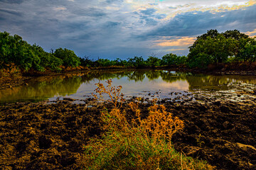
[[[25,70],[44,71],[49,68],[59,71],[60,65],[78,67],[80,58],[75,55],[75,52],[66,48],[46,52],[36,44],[28,44],[19,35],[11,36],[10,33],[0,32],[0,67],[10,63],[14,63]]]

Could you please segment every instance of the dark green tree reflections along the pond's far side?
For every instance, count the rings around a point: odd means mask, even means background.
[[[40,101],[55,95],[65,96],[75,94],[82,83],[90,83],[95,79],[105,81],[107,79],[122,79],[144,81],[147,77],[150,81],[161,79],[167,83],[175,81],[188,81],[189,90],[225,90],[228,84],[244,82],[256,84],[255,77],[250,76],[211,76],[202,74],[191,74],[181,72],[171,72],[163,70],[118,70],[118,71],[95,71],[76,74],[64,74],[58,77],[38,77],[33,79],[28,86],[14,87],[0,91],[0,102],[33,100]],[[92,89],[93,90],[93,89]]]

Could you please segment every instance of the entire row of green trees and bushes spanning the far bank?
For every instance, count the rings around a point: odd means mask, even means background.
[[[18,35],[0,32],[0,69],[14,63],[20,69],[28,71],[35,69],[45,71],[50,69],[60,71],[63,67],[162,67],[162,66],[186,66],[190,68],[206,68],[209,64],[227,62],[255,62],[256,39],[250,38],[239,30],[227,30],[218,33],[217,30],[208,30],[207,33],[198,36],[189,47],[188,56],[167,54],[158,58],[154,55],[146,60],[143,57],[133,57],[127,60],[97,59],[78,57],[73,50],[58,48],[46,52],[42,47],[22,40]],[[63,67],[60,67],[63,66]]]

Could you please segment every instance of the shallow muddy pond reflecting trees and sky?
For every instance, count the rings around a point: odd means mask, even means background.
[[[256,89],[253,76],[214,76],[174,72],[168,70],[118,70],[92,71],[65,74],[55,77],[36,77],[25,86],[0,91],[0,103],[17,101],[43,101],[57,98],[75,98],[82,101],[91,97],[98,82],[112,79],[114,86],[122,86],[126,98],[132,96],[144,98],[177,98],[195,94],[208,96],[227,96],[246,94]],[[241,95],[240,95],[241,96]],[[234,98],[233,98],[234,99]]]

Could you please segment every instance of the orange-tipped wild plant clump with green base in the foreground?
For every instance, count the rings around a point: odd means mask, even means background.
[[[101,139],[92,139],[85,146],[87,169],[213,169],[206,162],[186,157],[175,151],[171,137],[184,128],[183,121],[166,112],[164,106],[153,101],[149,116],[141,119],[139,103],[129,103],[136,118],[128,123],[122,111],[122,86],[96,84],[96,94],[100,101],[106,101],[103,94],[110,97],[112,111],[102,111],[105,134]],[[98,94],[98,95],[97,95]]]

